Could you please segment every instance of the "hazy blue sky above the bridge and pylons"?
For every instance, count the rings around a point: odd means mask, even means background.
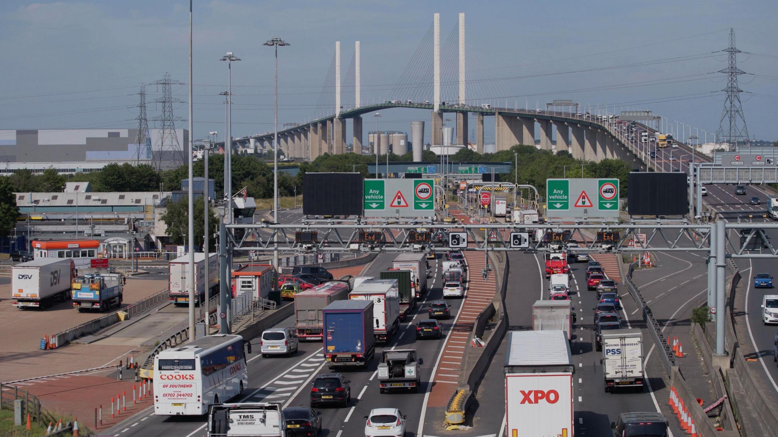
[[[718,91],[725,86],[715,72],[726,67],[724,54],[712,52],[727,47],[734,27],[738,48],[750,52],[741,54],[738,66],[755,74],[741,76],[741,89],[752,93],[741,95],[748,131],[757,139],[778,139],[778,31],[772,29],[778,3],[664,0],[195,1],[194,138],[223,133],[218,94],[226,89],[226,63],[218,59],[226,51],[243,59],[233,65],[233,135],[272,130],[273,51],[261,44],[275,36],[292,44],[279,51],[279,124],[329,112],[332,89],[320,92],[335,40],[342,44],[344,99],[352,99],[345,81],[353,75],[349,65],[359,40],[363,103],[406,98],[391,95],[402,77],[417,84],[405,94],[432,100],[429,75],[408,79],[403,72],[434,12],[440,12],[441,44],[452,35],[458,13],[465,13],[471,103],[534,108],[571,99],[653,110],[710,134],[719,125]],[[141,82],[161,79],[164,72],[187,81],[187,30],[185,2],[2,2],[0,128],[134,127]],[[417,58],[408,71],[421,75],[431,53]],[[443,62],[445,74],[455,74],[450,63]],[[148,91],[150,101],[161,88]],[[187,98],[186,86],[173,93]],[[185,103],[176,108],[178,116],[187,116]],[[149,117],[157,114],[159,106],[149,103]],[[382,115],[382,130],[409,131],[410,121],[429,121],[426,110]],[[493,141],[491,119],[486,124],[486,140]],[[365,131],[373,126],[366,124]]]

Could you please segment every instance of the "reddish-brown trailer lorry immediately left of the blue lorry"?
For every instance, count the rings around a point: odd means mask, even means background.
[[[332,302],[349,299],[348,281],[327,281],[294,296],[294,318],[300,341],[324,340],[324,308]]]

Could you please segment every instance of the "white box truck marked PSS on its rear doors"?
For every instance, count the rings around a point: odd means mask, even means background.
[[[643,390],[643,334],[639,329],[602,331],[605,391],[622,387]]]

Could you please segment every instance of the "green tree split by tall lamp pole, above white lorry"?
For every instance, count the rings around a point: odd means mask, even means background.
[[[195,200],[195,246],[197,248],[202,247],[204,238],[204,221],[205,221],[205,202],[204,198],[200,197]],[[189,235],[189,199],[184,196],[180,201],[170,202],[167,204],[167,211],[161,217],[162,221],[167,225],[167,235],[173,239],[175,244],[188,243]],[[216,240],[213,238],[213,234],[218,229],[219,218],[216,215],[216,210],[209,208],[209,247],[216,247]]]

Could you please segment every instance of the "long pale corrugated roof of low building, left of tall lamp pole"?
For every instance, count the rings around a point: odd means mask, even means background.
[[[128,191],[89,193],[14,193],[16,206],[137,206],[156,205],[160,198],[170,196],[170,191]]]

